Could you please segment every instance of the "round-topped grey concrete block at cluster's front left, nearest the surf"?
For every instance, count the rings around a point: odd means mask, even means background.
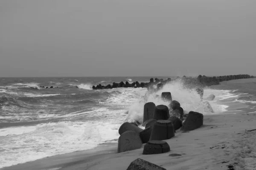
[[[128,130],[121,134],[118,139],[118,149],[117,152],[125,152],[128,150],[140,149],[142,146],[142,141],[140,139],[139,133]]]

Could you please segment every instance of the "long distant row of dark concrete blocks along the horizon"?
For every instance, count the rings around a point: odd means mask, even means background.
[[[205,87],[210,85],[218,85],[219,82],[223,81],[229,81],[233,79],[249,79],[254,78],[254,76],[250,76],[248,74],[239,74],[239,75],[229,75],[229,76],[217,76],[217,77],[207,77],[199,75],[198,77],[176,77],[175,79],[168,78],[166,80],[158,79],[158,78],[151,78],[149,82],[113,82],[112,85],[93,85],[93,90],[101,90],[101,89],[112,89],[112,88],[150,88],[153,87],[153,85],[157,86],[157,89],[163,87],[163,85],[166,85],[167,82],[173,82],[180,80],[183,82],[183,85],[185,85],[187,88],[193,88],[193,87]]]

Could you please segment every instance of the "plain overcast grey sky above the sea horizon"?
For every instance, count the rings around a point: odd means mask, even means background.
[[[256,75],[256,0],[0,0],[0,77]]]

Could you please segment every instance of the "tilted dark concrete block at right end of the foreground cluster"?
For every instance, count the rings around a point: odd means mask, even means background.
[[[183,131],[195,130],[203,125],[203,121],[204,121],[203,114],[190,111],[180,130],[183,130]]]

